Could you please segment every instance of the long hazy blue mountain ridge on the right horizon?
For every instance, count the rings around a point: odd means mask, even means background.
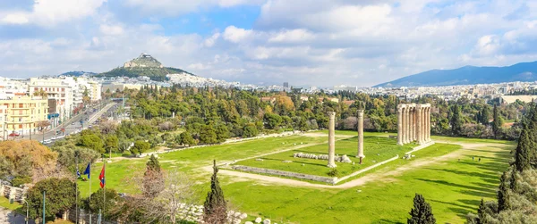
[[[424,71],[375,87],[439,87],[536,80],[537,62],[522,62],[506,67],[465,66],[455,70]]]

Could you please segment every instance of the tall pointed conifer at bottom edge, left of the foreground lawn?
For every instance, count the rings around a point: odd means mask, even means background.
[[[210,178],[210,191],[203,204],[203,220],[210,224],[226,223],[226,200],[218,182],[217,161],[213,161],[213,175]]]

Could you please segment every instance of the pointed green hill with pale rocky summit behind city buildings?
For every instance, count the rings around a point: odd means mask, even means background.
[[[168,74],[185,73],[194,76],[194,74],[181,69],[164,67],[162,63],[149,54],[142,53],[139,57],[125,62],[123,67],[117,67],[111,71],[103,72],[97,77],[139,77],[147,76],[152,80],[164,81]]]

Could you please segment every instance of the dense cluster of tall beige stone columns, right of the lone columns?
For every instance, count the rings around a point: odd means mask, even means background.
[[[430,104],[397,105],[397,145],[429,143]]]

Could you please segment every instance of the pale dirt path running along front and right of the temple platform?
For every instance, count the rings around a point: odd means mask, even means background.
[[[447,142],[439,141],[439,143],[447,143]],[[269,183],[269,184],[279,184],[279,185],[294,186],[294,187],[345,189],[345,188],[362,186],[372,180],[389,181],[393,179],[392,177],[400,176],[405,171],[414,170],[419,167],[427,166],[427,165],[434,164],[434,163],[444,162],[444,161],[448,161],[450,159],[456,158],[461,153],[464,153],[463,150],[479,149],[479,148],[486,147],[486,146],[503,146],[503,144],[481,144],[481,143],[473,144],[473,143],[460,143],[460,142],[451,142],[450,144],[461,145],[463,148],[453,153],[447,153],[445,155],[432,158],[432,159],[430,158],[417,159],[413,162],[410,162],[409,164],[405,166],[396,168],[396,170],[389,170],[388,172],[379,172],[379,171],[373,172],[362,178],[355,178],[351,181],[345,182],[344,184],[337,185],[337,186],[331,186],[331,185],[325,185],[325,184],[312,184],[310,182],[305,182],[305,181],[295,180],[295,179],[290,179],[290,178],[277,178],[277,177],[270,177],[270,176],[253,174],[253,173],[245,173],[245,172],[234,171],[234,170],[220,170],[219,173],[224,174],[224,175],[229,175],[229,176],[235,176],[239,178],[256,179],[256,180],[260,180],[261,182]],[[204,170],[212,171],[210,167],[204,167]]]

